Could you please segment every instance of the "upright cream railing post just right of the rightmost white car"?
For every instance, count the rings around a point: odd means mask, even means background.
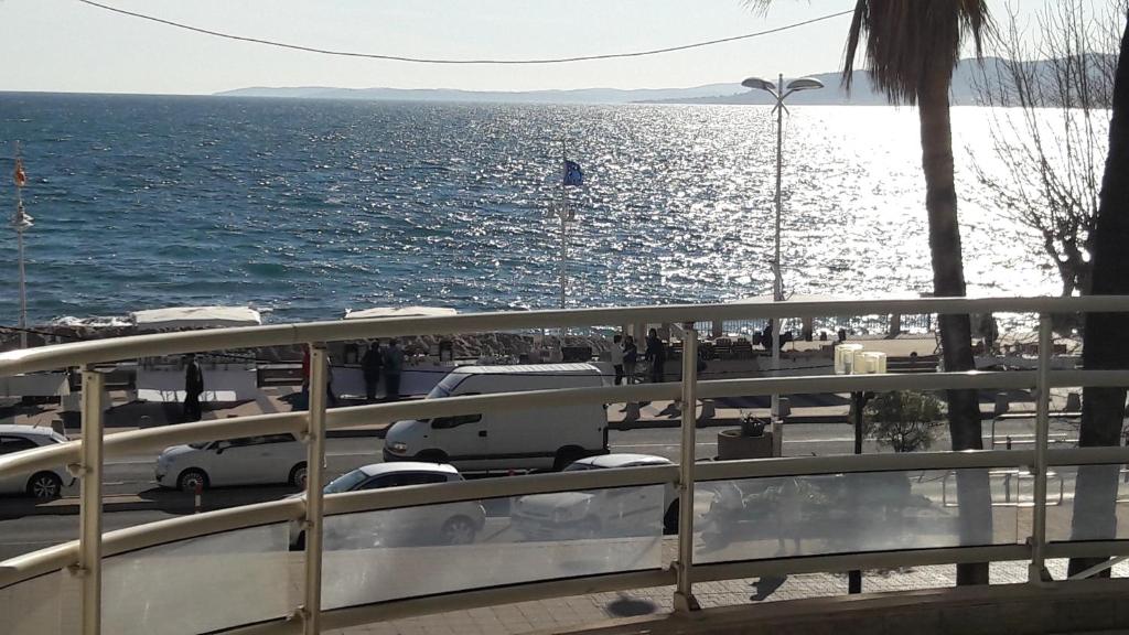
[[[693,322],[682,330],[682,459],[679,464],[679,559],[674,563],[677,586],[674,610],[688,612],[700,606],[690,582],[694,560],[694,451],[698,432],[698,331]]]

